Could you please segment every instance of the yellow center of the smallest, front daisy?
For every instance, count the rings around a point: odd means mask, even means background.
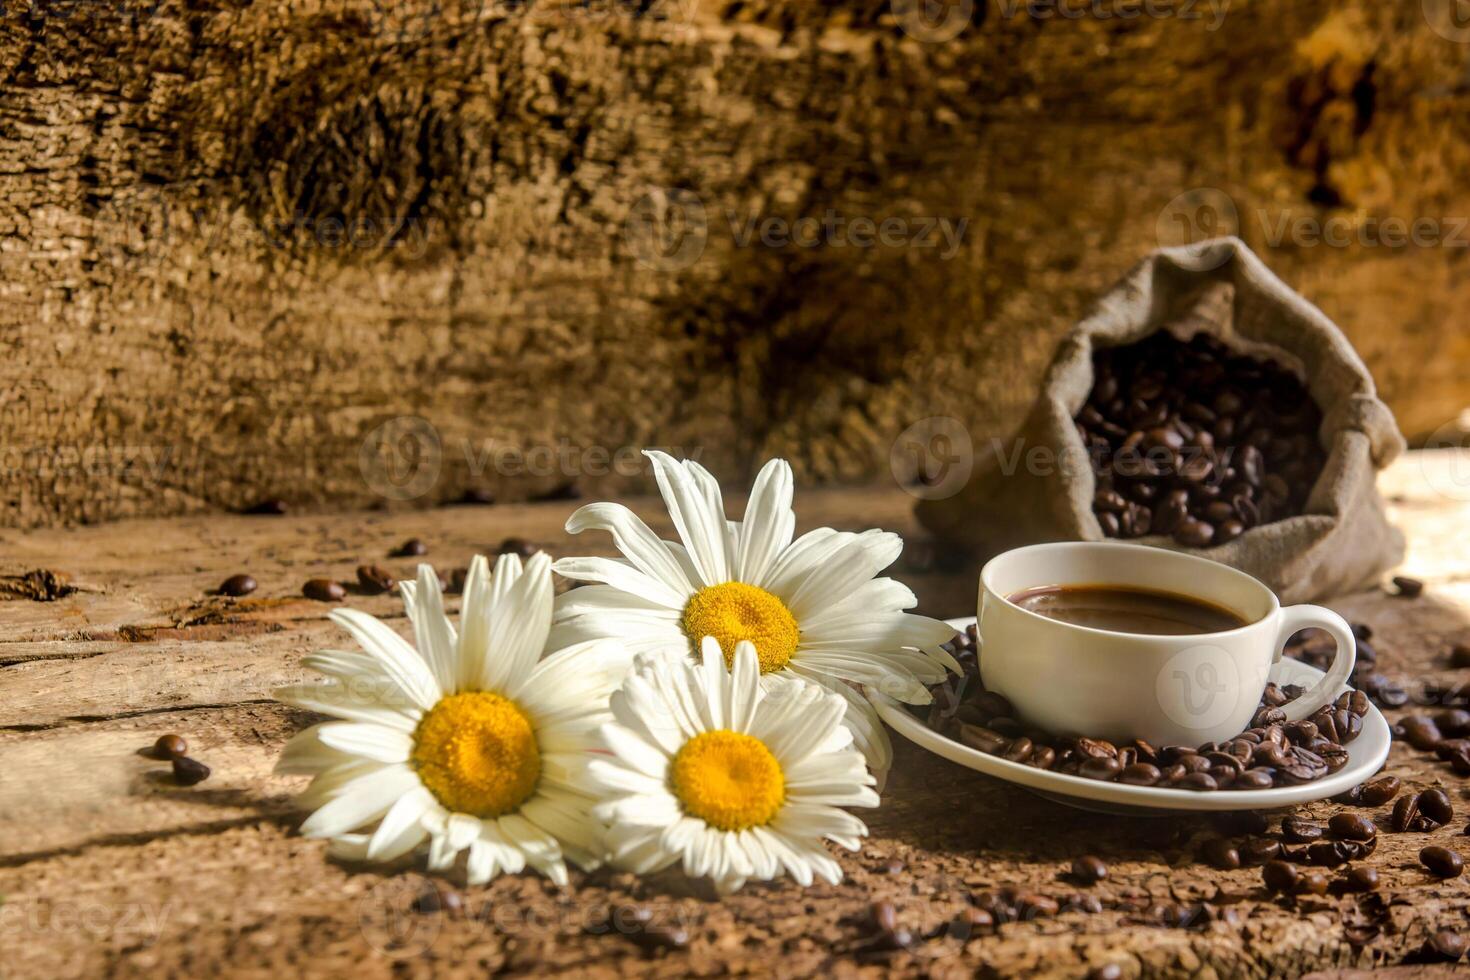
[[[685,742],[669,782],[684,813],[720,830],[761,827],[786,801],[786,777],[766,743],[726,729]]]

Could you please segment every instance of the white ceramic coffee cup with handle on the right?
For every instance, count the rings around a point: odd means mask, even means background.
[[[1008,601],[1050,585],[1158,589],[1214,602],[1247,624],[1217,633],[1123,633],[1048,619]],[[1250,727],[1272,664],[1292,633],[1316,626],[1338,644],[1326,676],[1282,707],[1299,721],[1329,704],[1357,657],[1348,623],[1320,605],[1282,607],[1229,566],[1122,542],[1016,548],[980,570],[980,677],[1028,723],[1054,735],[1154,745],[1223,742]]]

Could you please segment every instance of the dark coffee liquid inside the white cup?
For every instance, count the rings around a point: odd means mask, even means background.
[[[1247,626],[1232,610],[1192,595],[1120,585],[1042,585],[1005,597],[1061,623],[1114,633],[1188,636]]]

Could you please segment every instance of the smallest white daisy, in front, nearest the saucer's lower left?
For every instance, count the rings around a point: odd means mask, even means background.
[[[795,677],[760,676],[750,642],[726,669],[713,638],[703,664],[642,657],[612,696],[601,789],[612,860],[638,874],[682,862],[720,892],[789,874],[838,883],[822,839],[856,851],[867,827],[838,807],[876,807],[873,777],[842,724],[847,702]]]

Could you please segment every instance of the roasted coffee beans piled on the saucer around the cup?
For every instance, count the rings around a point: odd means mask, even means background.
[[[1367,696],[1352,691],[1304,721],[1286,721],[1282,705],[1302,689],[1270,683],[1251,727],[1229,742],[1154,746],[1142,739],[1113,745],[1086,736],[1054,738],[1019,721],[1005,698],[985,689],[973,626],[950,646],[964,674],[931,688],[929,727],[1013,763],[1130,786],[1211,792],[1310,783],[1347,765],[1345,746],[1363,732],[1369,710]]]

